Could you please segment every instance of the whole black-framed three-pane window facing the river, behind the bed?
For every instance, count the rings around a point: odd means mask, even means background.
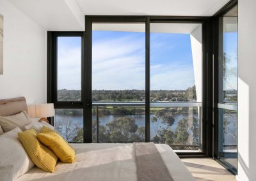
[[[86,16],[85,32],[49,32],[56,129],[70,142],[207,154],[207,21]]]

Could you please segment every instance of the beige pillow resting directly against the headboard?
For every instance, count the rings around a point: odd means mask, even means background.
[[[22,131],[25,131],[25,126],[31,124],[31,120],[26,112],[20,112],[16,115],[0,116],[0,125],[4,132],[11,131],[15,127],[19,127]]]

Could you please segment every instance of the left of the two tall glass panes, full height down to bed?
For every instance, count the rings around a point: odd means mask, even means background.
[[[92,101],[93,141],[145,141],[145,23],[93,22]]]

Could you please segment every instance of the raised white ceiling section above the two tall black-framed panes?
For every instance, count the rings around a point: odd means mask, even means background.
[[[212,16],[229,0],[77,0],[84,15]]]

